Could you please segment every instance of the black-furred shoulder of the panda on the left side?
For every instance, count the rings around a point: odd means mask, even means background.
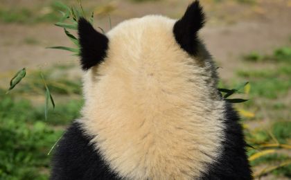
[[[71,123],[55,147],[51,179],[118,179],[90,141],[78,120]]]

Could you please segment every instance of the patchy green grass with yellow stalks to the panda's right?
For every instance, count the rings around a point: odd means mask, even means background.
[[[248,68],[239,70],[234,80],[249,81],[251,91],[249,102],[238,108],[253,111],[254,118],[244,118],[245,123],[258,122],[255,129],[246,129],[247,143],[256,147],[249,148],[249,156],[263,150],[283,150],[266,154],[251,162],[252,166],[267,165],[277,167],[272,170],[276,176],[291,177],[291,165],[278,168],[280,163],[291,161],[288,147],[276,147],[279,144],[291,145],[291,112],[288,94],[291,91],[291,47],[277,48],[269,54],[252,52],[243,57]],[[267,64],[267,68],[264,65]],[[258,69],[262,66],[261,69]],[[261,123],[260,123],[261,122]],[[265,147],[273,144],[274,147]],[[270,172],[268,172],[270,173]]]

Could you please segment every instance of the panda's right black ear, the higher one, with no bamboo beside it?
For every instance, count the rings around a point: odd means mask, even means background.
[[[191,3],[184,16],[179,19],[173,28],[177,43],[187,53],[197,54],[198,37],[197,33],[204,25],[204,12],[199,1]]]

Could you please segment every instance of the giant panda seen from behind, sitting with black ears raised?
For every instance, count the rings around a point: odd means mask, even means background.
[[[51,179],[252,179],[238,114],[198,37],[199,1],[108,33],[78,21],[85,105],[58,143]]]

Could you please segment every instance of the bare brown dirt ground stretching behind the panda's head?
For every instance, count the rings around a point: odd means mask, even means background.
[[[85,7],[94,8],[96,26],[109,30],[108,16],[115,26],[124,19],[148,14],[179,18],[190,1],[84,1]],[[33,1],[6,1],[10,6],[33,6]],[[37,1],[35,1],[37,3]],[[207,15],[206,27],[201,32],[209,51],[217,60],[220,75],[227,79],[233,71],[244,67],[240,57],[250,51],[267,52],[290,43],[291,1],[262,0],[256,4],[223,1],[202,1]],[[46,49],[47,46],[70,46],[63,30],[53,24],[0,24],[0,55],[2,76],[26,66],[28,69],[45,68],[55,63],[76,63],[70,53]],[[29,42],[33,39],[33,43]],[[1,78],[1,77],[0,77]]]

